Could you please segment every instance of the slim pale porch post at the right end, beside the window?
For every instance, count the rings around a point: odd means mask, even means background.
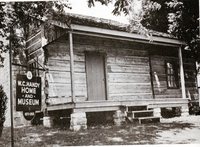
[[[179,53],[179,66],[180,66],[180,77],[181,77],[181,92],[182,92],[182,98],[185,99],[186,98],[185,78],[184,78],[183,57],[182,57],[181,47],[179,47],[178,53]]]

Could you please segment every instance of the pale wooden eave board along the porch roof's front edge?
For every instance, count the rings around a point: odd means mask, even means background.
[[[185,45],[185,42],[174,38],[159,37],[159,36],[146,37],[144,35],[136,33],[129,33],[118,30],[109,30],[109,29],[77,25],[77,24],[71,24],[70,26],[71,30],[73,30],[73,33],[75,34],[87,34],[90,36],[102,36],[107,38],[114,37],[116,39],[143,42],[148,44],[167,45],[174,47],[180,47],[182,45]]]

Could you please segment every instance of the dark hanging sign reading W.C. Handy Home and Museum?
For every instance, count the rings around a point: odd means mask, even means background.
[[[41,109],[41,78],[17,75],[16,110],[36,111]]]

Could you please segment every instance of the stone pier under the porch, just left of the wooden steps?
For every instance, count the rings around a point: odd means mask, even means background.
[[[117,126],[121,126],[123,123],[125,123],[125,113],[124,111],[117,110],[115,111],[115,114],[113,115],[114,124]]]

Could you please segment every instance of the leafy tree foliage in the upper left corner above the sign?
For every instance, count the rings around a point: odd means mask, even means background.
[[[0,38],[11,41],[13,54],[19,55],[24,52],[27,24],[34,23],[33,18],[62,13],[65,8],[70,8],[68,1],[0,2]],[[2,53],[7,50],[9,46],[0,41],[0,64],[4,60]]]

